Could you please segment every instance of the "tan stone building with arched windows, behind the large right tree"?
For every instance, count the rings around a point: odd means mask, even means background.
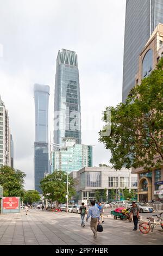
[[[137,85],[155,69],[160,58],[163,57],[163,24],[159,24],[139,56],[139,71],[136,75]],[[158,160],[159,155],[154,157]],[[132,173],[138,175],[138,199],[140,201],[163,201],[163,166],[147,171],[142,167],[133,169]]]

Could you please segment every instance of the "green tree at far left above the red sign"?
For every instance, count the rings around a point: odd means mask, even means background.
[[[0,185],[3,187],[4,197],[23,197],[24,178],[26,174],[9,166],[0,168]]]

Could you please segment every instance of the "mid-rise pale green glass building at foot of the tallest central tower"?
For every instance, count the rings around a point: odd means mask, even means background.
[[[92,166],[92,146],[77,144],[76,139],[73,138],[65,138],[64,147],[54,150],[52,154],[53,170],[70,173]]]

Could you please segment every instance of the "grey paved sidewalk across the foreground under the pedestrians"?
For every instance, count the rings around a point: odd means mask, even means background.
[[[90,220],[89,220],[90,221]],[[0,245],[162,245],[161,227],[153,233],[133,231],[133,223],[104,218],[104,231],[93,239],[90,222],[83,228],[80,215],[29,210],[0,215]]]

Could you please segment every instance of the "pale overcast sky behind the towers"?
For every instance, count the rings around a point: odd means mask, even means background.
[[[109,151],[98,142],[98,132],[102,111],[122,100],[125,7],[126,0],[0,0],[0,95],[9,112],[14,167],[26,172],[26,189],[33,188],[33,85],[50,86],[53,139],[55,69],[61,48],[78,54],[82,143],[95,145],[93,166],[109,164]]]

